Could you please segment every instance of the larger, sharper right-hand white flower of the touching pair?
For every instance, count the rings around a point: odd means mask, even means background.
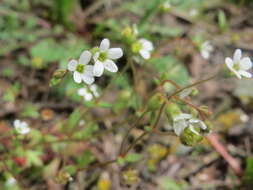
[[[121,48],[110,48],[110,41],[103,39],[100,43],[99,50],[93,56],[95,65],[93,69],[94,76],[100,77],[104,69],[110,72],[117,72],[118,67],[113,60],[119,59],[123,56]]]

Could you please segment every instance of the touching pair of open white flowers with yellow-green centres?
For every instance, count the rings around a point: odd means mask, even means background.
[[[68,70],[73,72],[74,81],[86,84],[92,84],[94,77],[102,76],[104,69],[110,72],[117,72],[118,67],[114,60],[123,56],[121,48],[110,48],[110,41],[103,39],[99,47],[93,48],[93,51],[84,51],[79,60],[70,60],[68,63]],[[90,61],[94,65],[90,65]]]

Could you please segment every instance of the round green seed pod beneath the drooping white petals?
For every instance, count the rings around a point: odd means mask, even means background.
[[[199,127],[194,127],[193,125],[186,127],[180,135],[180,141],[187,146],[197,145],[203,139],[200,130]]]

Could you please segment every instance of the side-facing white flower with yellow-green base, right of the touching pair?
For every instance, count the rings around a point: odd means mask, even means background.
[[[134,53],[139,53],[144,59],[149,59],[154,46],[151,41],[144,38],[138,40],[132,45]]]

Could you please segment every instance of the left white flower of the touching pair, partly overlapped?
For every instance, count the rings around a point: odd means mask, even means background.
[[[68,70],[74,72],[74,81],[81,83],[84,81],[86,84],[92,84],[94,82],[93,66],[88,65],[91,60],[91,53],[84,51],[79,61],[72,59],[68,64]]]

